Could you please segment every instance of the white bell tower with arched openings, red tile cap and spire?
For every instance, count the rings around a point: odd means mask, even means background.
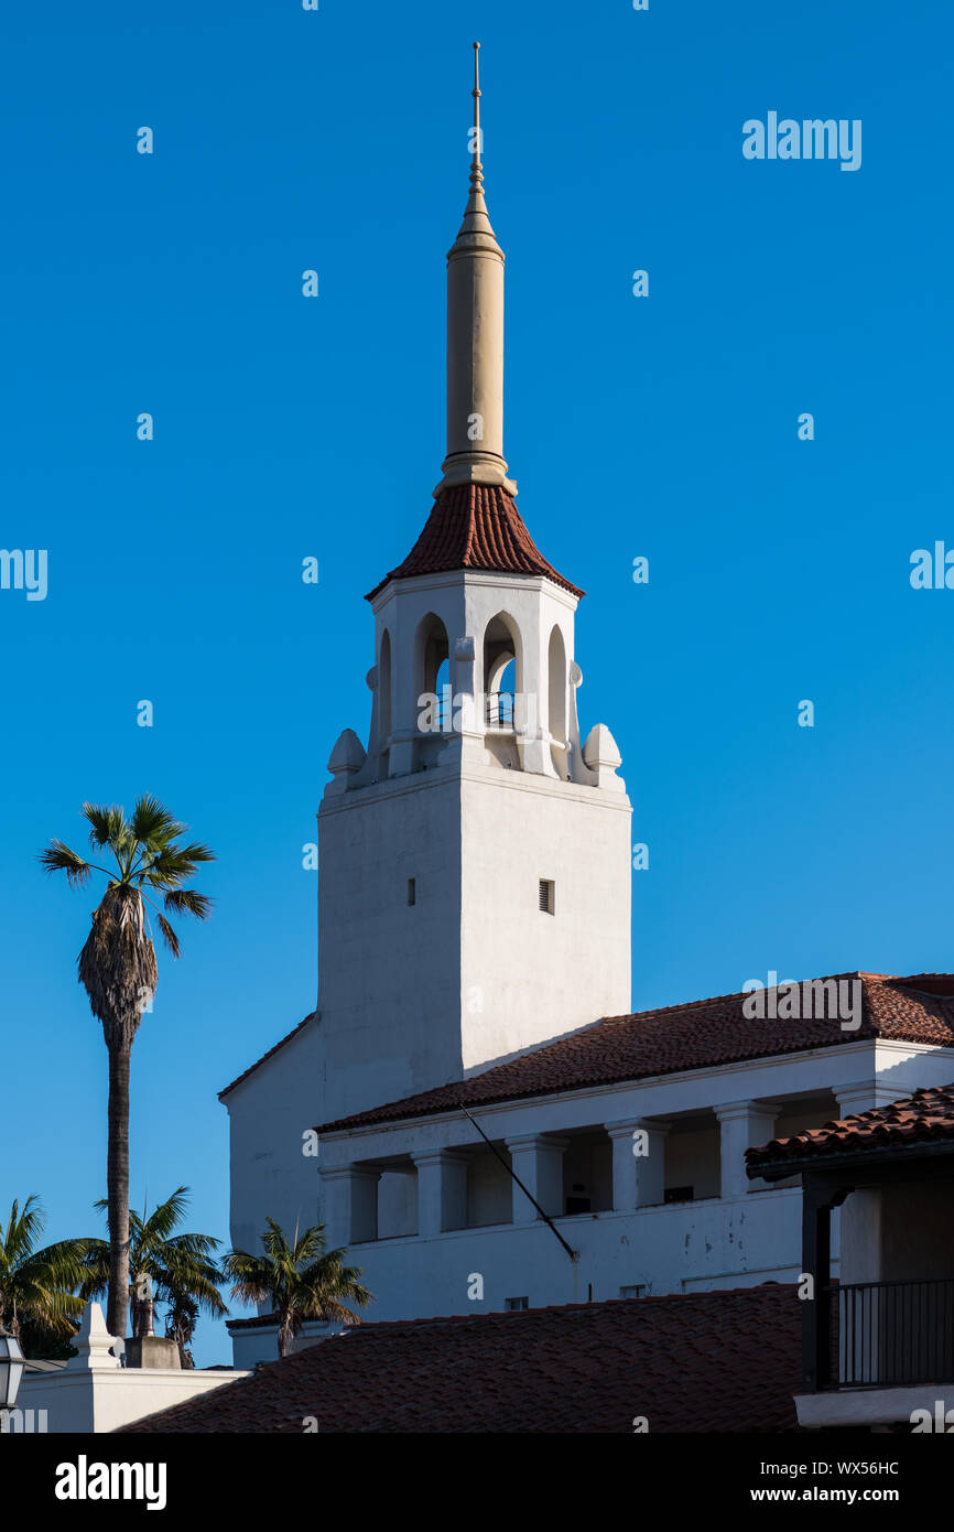
[[[447,452],[427,522],[369,593],[366,746],[319,813],[325,1121],[629,1010],[629,801],[577,720],[583,594],[504,460],[504,251],[473,152],[447,256]]]

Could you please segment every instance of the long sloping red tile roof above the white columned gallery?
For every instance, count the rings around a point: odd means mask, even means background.
[[[746,994],[723,994],[635,1016],[606,1017],[470,1080],[325,1123],[319,1132],[430,1117],[453,1109],[459,1102],[487,1106],[683,1069],[712,1069],[743,1059],[835,1048],[859,1039],[893,1037],[954,1048],[954,976],[894,979],[853,973],[833,977],[861,980],[862,1025],[856,1031],[842,1031],[838,1019],[750,1019],[743,1016]]]

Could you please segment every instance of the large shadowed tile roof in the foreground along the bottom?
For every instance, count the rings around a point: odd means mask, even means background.
[[[123,1431],[796,1431],[801,1307],[766,1285],[366,1324]]]

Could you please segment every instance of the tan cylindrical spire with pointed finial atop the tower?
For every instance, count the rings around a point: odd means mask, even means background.
[[[470,195],[447,251],[447,457],[435,495],[455,484],[516,495],[504,460],[504,251],[484,199],[479,47],[473,44]]]

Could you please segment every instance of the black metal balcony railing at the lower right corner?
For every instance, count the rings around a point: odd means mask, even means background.
[[[954,1278],[839,1282],[831,1305],[836,1388],[890,1388],[954,1379]]]

